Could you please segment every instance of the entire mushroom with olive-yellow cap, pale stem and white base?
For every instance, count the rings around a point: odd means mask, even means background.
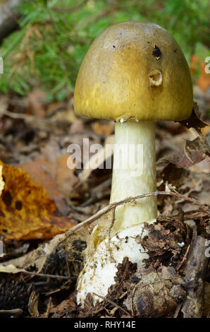
[[[156,191],[155,121],[184,120],[192,112],[192,81],[183,52],[154,23],[112,25],[82,61],[74,108],[85,117],[116,122],[110,203]],[[125,256],[143,264],[148,254],[136,237],[146,234],[144,223],[154,223],[156,215],[156,196],[149,196],[116,208],[111,237],[97,237],[94,228],[94,254],[78,278],[78,303],[88,293],[94,304],[101,300],[97,295],[106,296]]]

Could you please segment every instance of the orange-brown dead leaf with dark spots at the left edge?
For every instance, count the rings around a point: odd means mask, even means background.
[[[74,225],[58,215],[54,201],[26,172],[1,165],[5,186],[0,197],[0,234],[5,239],[51,239]]]

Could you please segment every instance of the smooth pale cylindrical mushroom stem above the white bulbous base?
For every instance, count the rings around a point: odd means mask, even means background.
[[[110,203],[156,191],[154,121],[116,122]],[[113,232],[156,218],[156,196],[116,209]]]

